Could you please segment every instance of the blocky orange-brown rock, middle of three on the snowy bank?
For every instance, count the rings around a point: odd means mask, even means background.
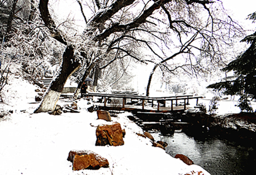
[[[123,145],[123,132],[119,123],[112,125],[99,125],[96,130],[97,141],[96,145]]]

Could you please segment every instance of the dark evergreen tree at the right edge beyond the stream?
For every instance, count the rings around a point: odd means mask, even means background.
[[[249,15],[249,19],[256,20],[256,12]],[[246,36],[243,42],[251,44],[250,47],[231,61],[222,71],[234,71],[238,75],[236,80],[226,80],[209,85],[207,88],[214,90],[224,90],[226,95],[239,95],[241,111],[253,112],[248,98],[256,98],[256,32]]]

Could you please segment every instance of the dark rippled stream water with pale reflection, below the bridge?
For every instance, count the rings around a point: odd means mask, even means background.
[[[152,134],[155,140],[166,141],[166,152],[188,156],[196,165],[200,165],[212,175],[256,174],[256,150],[253,146],[241,146],[234,141],[207,138],[195,140],[183,132],[174,136]]]

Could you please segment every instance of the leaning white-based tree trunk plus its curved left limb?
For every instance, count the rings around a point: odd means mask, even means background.
[[[41,17],[49,29],[52,38],[56,39],[60,43],[68,45],[65,38],[56,29],[55,22],[51,18],[48,10],[48,0],[40,0],[39,10]],[[63,61],[59,68],[59,71],[53,78],[48,90],[44,94],[44,97],[39,105],[39,107],[34,111],[34,113],[46,113],[48,111],[54,111],[57,101],[59,100],[61,91],[65,85],[65,82],[77,69],[80,67],[80,60],[76,59],[74,56],[74,48],[72,45],[68,45],[63,53]]]

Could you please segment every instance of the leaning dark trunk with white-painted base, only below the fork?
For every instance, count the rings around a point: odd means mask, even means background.
[[[79,60],[74,57],[74,48],[69,46],[66,48],[63,54],[63,62],[59,69],[59,72],[53,78],[51,85],[48,87],[46,94],[40,103],[38,109],[34,113],[54,111],[57,101],[59,100],[61,91],[68,80],[77,69],[80,67]]]

